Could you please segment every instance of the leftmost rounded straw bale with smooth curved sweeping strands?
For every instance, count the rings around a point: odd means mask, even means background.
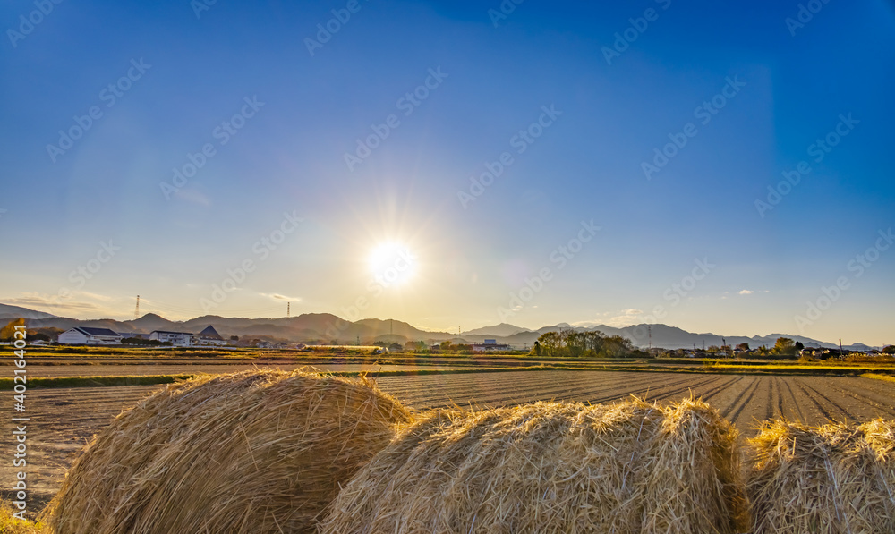
[[[47,508],[57,534],[313,532],[409,414],[365,379],[201,377],[105,428]]]

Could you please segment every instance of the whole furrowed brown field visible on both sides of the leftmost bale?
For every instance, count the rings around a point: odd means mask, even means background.
[[[680,401],[692,391],[753,437],[758,421],[780,414],[821,425],[827,420],[895,419],[895,387],[864,377],[772,377],[603,371],[510,371],[465,375],[380,377],[379,387],[415,408],[497,407],[538,400],[602,403],[636,394]],[[90,437],[125,408],[161,386],[76,387],[29,391],[33,488],[46,499]],[[3,423],[8,434],[11,423]],[[11,468],[0,466],[9,479]],[[31,508],[39,509],[39,503]]]

